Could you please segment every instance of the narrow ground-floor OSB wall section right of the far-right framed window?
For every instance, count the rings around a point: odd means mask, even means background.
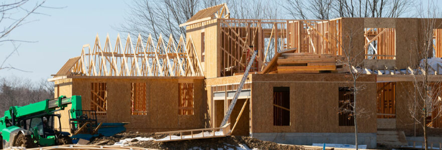
[[[396,128],[414,128],[414,120],[408,111],[413,96],[409,91],[414,91],[413,82],[396,83]]]

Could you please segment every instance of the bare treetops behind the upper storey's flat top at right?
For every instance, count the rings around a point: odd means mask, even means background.
[[[286,0],[281,5],[295,18],[329,19],[399,17],[410,10],[412,3],[412,0]]]

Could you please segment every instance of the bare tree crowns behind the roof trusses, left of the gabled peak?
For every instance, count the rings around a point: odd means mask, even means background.
[[[141,34],[144,39],[152,34],[158,40],[162,33],[185,36],[185,28],[179,27],[179,24],[192,17],[201,8],[202,2],[208,4],[213,0],[135,0],[129,5],[126,22],[118,29],[135,36]]]

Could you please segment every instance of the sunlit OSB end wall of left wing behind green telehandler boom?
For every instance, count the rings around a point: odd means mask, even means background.
[[[54,98],[57,98],[57,93],[61,95],[65,95],[66,97],[72,96],[72,79],[61,79],[56,80],[54,82]],[[64,110],[56,111],[55,114],[61,114],[60,121],[66,122],[61,124],[61,130],[62,131],[69,131],[69,109],[71,108],[71,104],[68,104],[67,107],[64,108]],[[58,128],[60,126],[58,121],[54,121],[54,127]]]

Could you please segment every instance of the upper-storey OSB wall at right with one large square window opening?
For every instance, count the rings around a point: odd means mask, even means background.
[[[352,38],[353,51],[364,49],[365,38],[364,28],[395,28],[396,32],[396,59],[395,60],[373,60],[378,67],[395,66],[397,68],[406,68],[412,64],[417,64],[420,60],[417,57],[417,45],[422,39],[422,31],[428,23],[425,18],[342,18],[343,43],[349,45],[350,37]],[[430,20],[434,21],[433,28],[442,28],[442,19]],[[349,48],[349,47],[347,47]],[[353,53],[352,55],[356,55]],[[358,56],[358,60],[364,59],[364,54]],[[371,60],[369,60],[371,61]],[[369,67],[369,66],[367,66]],[[370,67],[369,67],[370,68]]]

